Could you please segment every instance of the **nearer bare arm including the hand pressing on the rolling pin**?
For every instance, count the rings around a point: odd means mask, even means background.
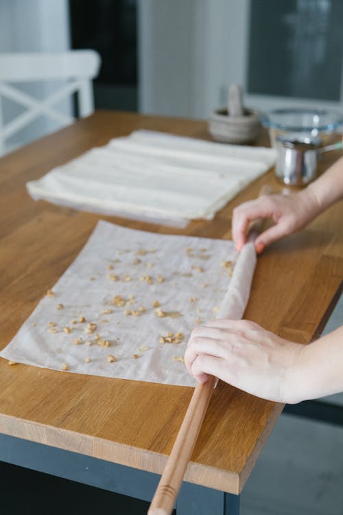
[[[199,382],[211,374],[255,396],[294,404],[343,391],[343,326],[300,345],[246,320],[195,328],[185,354]]]

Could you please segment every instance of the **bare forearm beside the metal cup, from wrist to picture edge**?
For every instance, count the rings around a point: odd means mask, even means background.
[[[313,196],[318,205],[318,214],[343,198],[343,157],[338,159],[316,181],[303,190]]]

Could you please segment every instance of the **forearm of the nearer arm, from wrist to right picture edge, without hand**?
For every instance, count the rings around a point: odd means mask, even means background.
[[[343,325],[303,348],[295,383],[294,402],[343,391]]]

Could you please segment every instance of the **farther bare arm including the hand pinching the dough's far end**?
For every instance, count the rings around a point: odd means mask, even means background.
[[[329,205],[343,198],[343,157],[304,190],[289,195],[261,196],[233,210],[233,241],[237,250],[246,242],[249,223],[272,218],[274,224],[255,240],[258,253],[270,243],[302,229]]]

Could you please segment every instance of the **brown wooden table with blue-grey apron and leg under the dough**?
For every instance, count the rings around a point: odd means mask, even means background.
[[[2,346],[71,264],[99,218],[134,229],[230,238],[233,207],[256,197],[263,184],[282,189],[268,172],[215,220],[196,220],[186,229],[100,217],[28,196],[26,181],[137,128],[209,139],[204,122],[99,111],[1,159]],[[322,167],[337,157],[327,155]],[[299,343],[320,334],[343,275],[342,220],[340,202],[261,255],[247,319]],[[191,393],[185,387],[11,367],[1,359],[0,459],[149,500]],[[238,497],[225,492],[241,492],[282,409],[220,382],[187,468],[178,515],[238,513]]]

